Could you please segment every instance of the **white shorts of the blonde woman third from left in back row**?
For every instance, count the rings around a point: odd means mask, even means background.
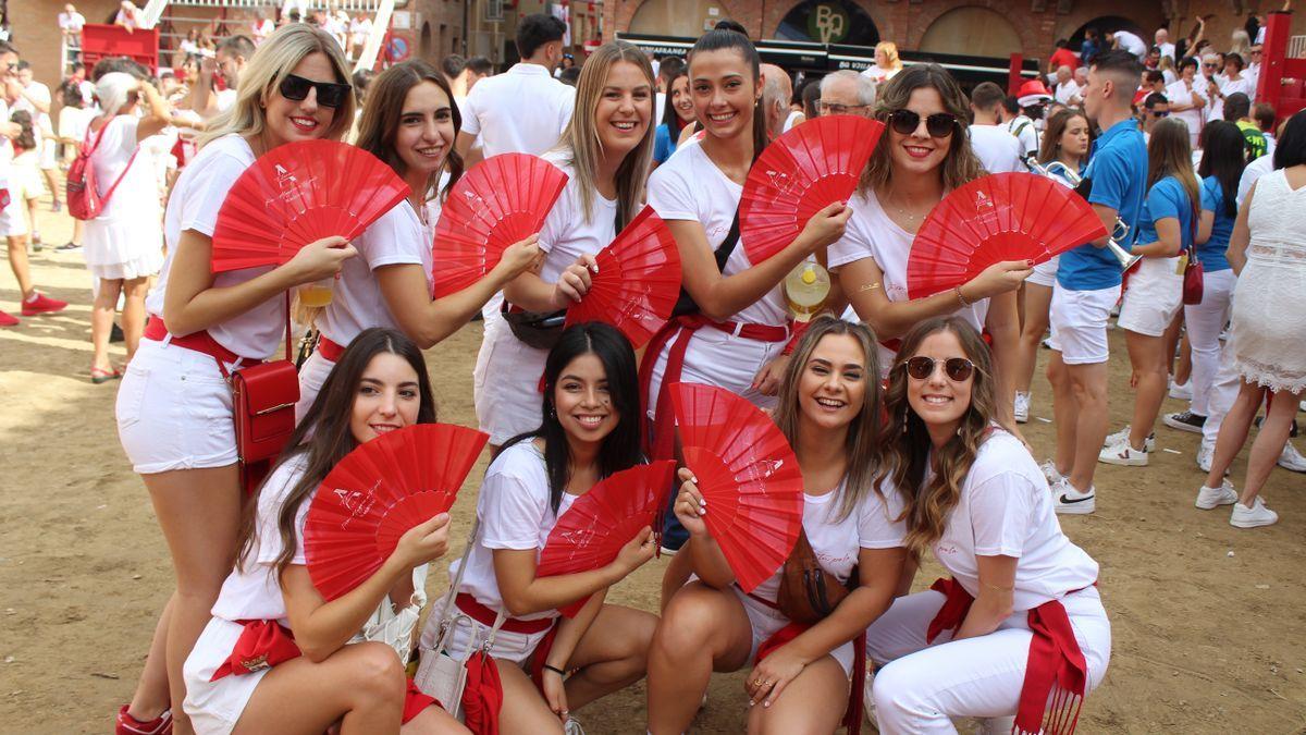
[[[539,428],[545,417],[539,377],[545,374],[547,358],[547,349],[518,340],[498,315],[486,322],[473,398],[477,421],[481,430],[490,434],[490,443],[502,446],[517,434]]]

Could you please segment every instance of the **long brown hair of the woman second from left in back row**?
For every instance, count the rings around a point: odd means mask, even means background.
[[[394,139],[398,136],[400,118],[404,116],[404,102],[407,99],[407,93],[424,81],[439,86],[440,92],[449,101],[449,114],[453,115],[453,137],[456,140],[458,131],[462,129],[462,115],[458,112],[457,102],[453,101],[453,92],[449,89],[449,82],[431,64],[421,59],[394,64],[381,72],[367,86],[367,103],[363,105],[363,118],[358,123],[358,141],[355,145],[385,161],[400,177],[404,175],[406,166],[404,165],[404,158],[394,150]],[[443,171],[449,171],[449,182],[445,184],[444,191],[439,192],[441,199],[449,194],[449,188],[462,177],[462,157],[453,149],[452,140],[449,141],[449,150],[444,156],[444,167],[431,174],[423,197],[435,195],[432,190],[439,183]]]

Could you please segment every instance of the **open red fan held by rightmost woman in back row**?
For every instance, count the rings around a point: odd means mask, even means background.
[[[981,177],[921,224],[906,263],[909,298],[959,286],[1002,260],[1043,263],[1106,234],[1075,190],[1034,174]]]

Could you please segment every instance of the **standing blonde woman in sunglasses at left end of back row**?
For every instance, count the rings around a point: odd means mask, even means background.
[[[129,732],[153,731],[157,718],[168,717],[170,698],[175,731],[191,731],[180,706],[182,664],[231,570],[243,496],[225,375],[277,352],[287,289],[338,273],[355,254],[332,237],[307,245],[285,265],[214,276],[210,238],[218,211],[260,154],[295,140],[338,140],[349,129],[354,97],[346,75],[329,35],[302,24],[274,33],[249,60],[235,106],[213,120],[167,204],[167,259],[145,302],[150,320],[119,388],[116,413],[123,449],[167,539],[176,592],[154,632],[137,693],[119,715],[119,727]]]

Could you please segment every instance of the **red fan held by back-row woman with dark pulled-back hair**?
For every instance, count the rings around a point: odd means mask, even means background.
[[[812,214],[857,190],[884,123],[823,115],[777,137],[748,170],[739,200],[739,241],[761,263],[798,237]]]

